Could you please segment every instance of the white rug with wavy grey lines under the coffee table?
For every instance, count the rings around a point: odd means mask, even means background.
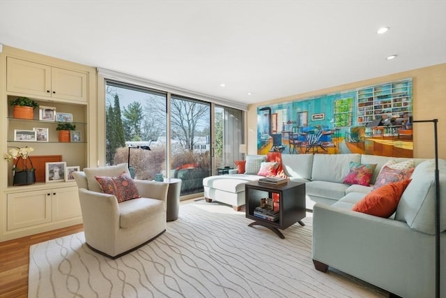
[[[311,214],[310,214],[311,215]],[[180,207],[160,237],[117,260],[84,233],[31,246],[29,297],[387,297],[312,263],[312,218],[279,239],[243,212],[203,201]]]

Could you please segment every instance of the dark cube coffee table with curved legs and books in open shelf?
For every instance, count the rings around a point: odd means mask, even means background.
[[[279,197],[279,218],[276,221],[268,221],[254,216],[254,210],[260,206],[261,198],[272,198],[274,193]],[[248,182],[245,184],[245,204],[246,217],[254,221],[254,223],[249,223],[250,227],[262,225],[282,239],[285,237],[279,229],[285,230],[295,223],[305,225],[302,222],[307,212],[305,209],[305,183],[288,181],[286,184],[272,185],[258,181]]]

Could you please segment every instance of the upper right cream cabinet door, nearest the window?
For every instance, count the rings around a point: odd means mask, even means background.
[[[52,68],[52,96],[86,103],[86,73]]]

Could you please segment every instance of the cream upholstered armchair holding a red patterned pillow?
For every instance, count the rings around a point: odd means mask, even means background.
[[[134,180],[141,198],[118,203],[102,192],[95,176],[116,177],[128,172],[127,164],[89,167],[74,172],[84,221],[86,244],[109,258],[134,251],[166,230],[169,184]]]

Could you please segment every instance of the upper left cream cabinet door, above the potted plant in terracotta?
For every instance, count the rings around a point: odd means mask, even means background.
[[[6,64],[8,91],[51,97],[51,66],[11,57]]]

